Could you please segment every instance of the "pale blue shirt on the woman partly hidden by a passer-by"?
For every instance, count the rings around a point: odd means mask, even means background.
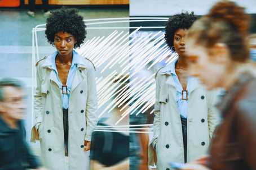
[[[170,72],[171,76],[173,76],[175,87],[176,87],[176,103],[178,105],[178,111],[180,113],[180,116],[183,118],[187,118],[188,114],[188,100],[182,100],[182,85],[179,82],[178,76],[176,75],[175,72],[175,63],[178,61],[178,58],[171,63],[170,66]],[[189,98],[189,85],[191,85],[193,82],[196,81],[195,77],[188,77],[188,82],[187,82],[187,91],[188,91],[188,98]]]

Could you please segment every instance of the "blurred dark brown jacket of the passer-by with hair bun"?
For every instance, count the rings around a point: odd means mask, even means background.
[[[210,147],[213,170],[256,169],[256,78],[240,75],[218,105],[223,122]]]

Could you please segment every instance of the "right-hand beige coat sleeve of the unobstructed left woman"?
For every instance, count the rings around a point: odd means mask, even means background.
[[[91,134],[96,127],[98,118],[96,115],[98,109],[97,102],[97,91],[96,91],[96,81],[95,81],[95,70],[94,68],[89,68],[87,72],[87,82],[88,82],[88,93],[87,93],[87,103],[86,103],[86,134],[85,140],[91,141]]]

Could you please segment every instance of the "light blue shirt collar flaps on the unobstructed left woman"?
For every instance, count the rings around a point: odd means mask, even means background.
[[[56,63],[55,63],[55,58],[56,58],[57,54],[58,54],[57,51],[52,53],[49,57],[46,58],[46,61],[45,61],[45,63],[43,63],[42,66],[50,67],[54,70],[57,70]],[[83,61],[80,54],[78,54],[75,50],[73,50],[73,59],[72,59],[71,67],[73,67],[74,65],[78,65],[78,67],[86,67],[86,63]]]

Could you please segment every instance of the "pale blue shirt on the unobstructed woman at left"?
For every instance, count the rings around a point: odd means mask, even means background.
[[[80,55],[73,50],[73,59],[72,59],[72,65],[69,69],[69,72],[68,72],[68,79],[67,79],[67,89],[68,89],[68,94],[62,94],[62,82],[60,81],[60,78],[58,76],[58,70],[57,70],[57,67],[56,67],[56,63],[55,63],[55,59],[56,59],[56,56],[57,56],[58,52],[55,52],[55,53],[52,53],[51,54],[51,58],[50,58],[50,65],[52,67],[52,69],[54,70],[54,72],[56,73],[56,76],[57,76],[57,80],[58,82],[56,82],[59,86],[59,89],[61,91],[61,99],[62,99],[62,107],[64,109],[67,109],[68,108],[68,102],[69,102],[69,95],[70,95],[70,90],[71,90],[71,85],[72,85],[72,82],[73,82],[73,79],[74,79],[74,75],[76,75],[76,71],[77,71],[77,64],[82,64],[81,63],[81,60],[80,60]]]

